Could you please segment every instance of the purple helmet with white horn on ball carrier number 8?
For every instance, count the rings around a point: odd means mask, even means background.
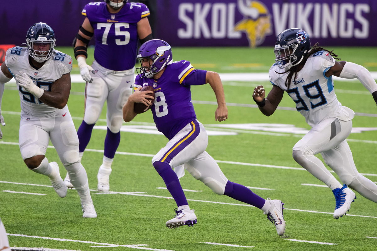
[[[140,46],[136,59],[140,60],[141,67],[136,72],[141,78],[152,78],[168,64],[173,63],[172,47],[164,40],[152,39]],[[143,59],[152,60],[149,67],[143,67]]]

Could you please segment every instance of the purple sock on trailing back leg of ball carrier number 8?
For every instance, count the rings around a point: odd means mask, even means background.
[[[227,185],[225,185],[224,194],[233,199],[253,205],[259,209],[261,209],[265,203],[265,199],[257,196],[249,188],[231,181],[228,181]]]

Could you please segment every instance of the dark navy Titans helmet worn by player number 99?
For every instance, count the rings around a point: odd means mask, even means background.
[[[277,36],[275,62],[280,69],[289,70],[301,63],[310,49],[309,35],[305,31],[297,28],[286,29]]]

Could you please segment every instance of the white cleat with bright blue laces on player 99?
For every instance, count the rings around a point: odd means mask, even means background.
[[[333,217],[338,219],[339,217],[343,217],[349,208],[351,208],[351,203],[355,201],[356,196],[355,193],[347,187],[347,185],[343,185],[342,188],[335,188],[333,190],[335,196],[335,210]]]

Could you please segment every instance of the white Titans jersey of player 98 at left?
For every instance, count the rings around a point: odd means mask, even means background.
[[[72,58],[57,50],[54,50],[54,53],[46,63],[36,70],[29,63],[28,48],[25,47],[8,49],[5,55],[5,64],[13,76],[20,71],[25,72],[34,81],[35,85],[47,92],[51,92],[51,85],[55,80],[72,70]],[[18,85],[17,87],[23,112],[33,116],[44,116],[58,110],[55,107],[44,104],[23,87]]]

